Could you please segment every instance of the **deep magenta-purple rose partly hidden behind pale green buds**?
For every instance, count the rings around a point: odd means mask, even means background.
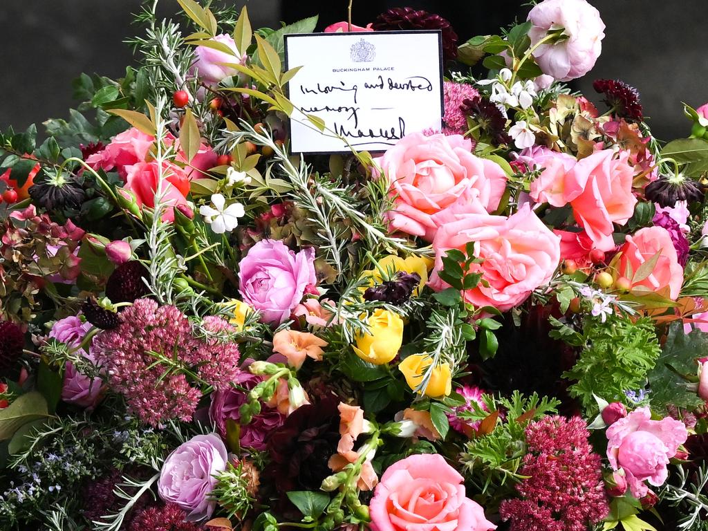
[[[212,404],[209,408],[209,418],[215,423],[219,435],[226,438],[226,421],[228,418],[239,422],[241,415],[239,409],[246,403],[246,394],[256,387],[263,377],[251,375],[249,372],[241,372],[235,380],[236,384],[244,387],[246,391],[228,387],[212,393]],[[241,446],[253,448],[254,450],[265,450],[265,436],[275,428],[280,427],[285,421],[285,415],[277,409],[263,406],[261,413],[253,416],[251,423],[241,426],[240,442]]]

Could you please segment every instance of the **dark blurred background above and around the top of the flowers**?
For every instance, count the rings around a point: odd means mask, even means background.
[[[243,0],[236,4],[242,5]],[[607,29],[603,55],[576,88],[597,101],[596,78],[623,79],[639,89],[645,114],[661,139],[684,137],[690,122],[681,102],[708,101],[707,0],[590,0]],[[0,127],[16,129],[48,117],[66,117],[71,81],[81,72],[120,77],[132,62],[122,41],[138,28],[131,13],[140,0],[1,0]],[[161,0],[164,13],[176,0]],[[347,0],[251,0],[254,27],[320,13],[320,29],[346,18]],[[509,0],[355,0],[353,22],[365,25],[391,6],[413,6],[452,22],[462,41],[496,33],[528,7]]]

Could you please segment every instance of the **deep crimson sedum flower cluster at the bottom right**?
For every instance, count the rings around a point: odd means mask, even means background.
[[[547,416],[526,428],[529,453],[519,473],[520,499],[501,503],[511,531],[585,531],[609,511],[600,456],[585,422]]]

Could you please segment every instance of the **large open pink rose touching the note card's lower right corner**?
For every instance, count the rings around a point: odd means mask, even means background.
[[[389,181],[395,208],[392,229],[432,241],[433,219],[459,201],[476,200],[496,210],[506,188],[506,173],[495,162],[471,153],[472,141],[462,135],[406,135],[376,159]],[[475,194],[469,191],[475,190]]]

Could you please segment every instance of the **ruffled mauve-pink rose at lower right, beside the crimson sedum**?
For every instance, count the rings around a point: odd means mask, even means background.
[[[647,407],[636,409],[607,428],[607,459],[613,470],[624,470],[632,496],[646,496],[668,477],[666,465],[688,437],[683,422],[673,418],[651,420]]]

